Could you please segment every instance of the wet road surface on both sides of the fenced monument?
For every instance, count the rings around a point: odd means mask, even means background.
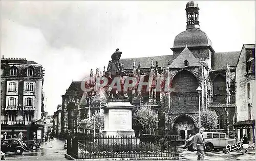
[[[22,155],[14,153],[6,154],[6,160],[68,160],[64,157],[66,149],[64,149],[63,140],[55,138],[55,140],[42,143],[41,149],[37,151],[24,152]],[[179,148],[180,160],[197,160],[196,152],[191,152],[186,149]],[[205,160],[254,160],[255,150],[248,150],[248,154],[241,152],[230,152],[229,154],[222,151],[205,152]]]

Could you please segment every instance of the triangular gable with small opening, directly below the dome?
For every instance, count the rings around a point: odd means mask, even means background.
[[[184,61],[188,61],[188,65],[185,66]],[[169,65],[169,68],[180,68],[180,67],[191,67],[191,66],[201,66],[202,64],[196,59],[196,57],[191,53],[187,46],[181,51],[180,55]]]

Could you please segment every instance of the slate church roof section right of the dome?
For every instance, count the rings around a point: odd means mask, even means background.
[[[223,70],[223,67],[226,67],[227,63],[230,67],[237,66],[240,52],[241,51],[215,52],[213,57],[211,57],[212,70]]]

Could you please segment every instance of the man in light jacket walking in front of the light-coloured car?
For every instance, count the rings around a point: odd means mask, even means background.
[[[193,149],[198,153],[197,160],[204,160],[204,128],[200,127],[199,132],[194,137]]]

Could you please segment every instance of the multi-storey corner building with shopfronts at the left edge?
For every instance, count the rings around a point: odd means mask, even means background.
[[[1,59],[1,135],[41,141],[44,69],[26,59]]]

